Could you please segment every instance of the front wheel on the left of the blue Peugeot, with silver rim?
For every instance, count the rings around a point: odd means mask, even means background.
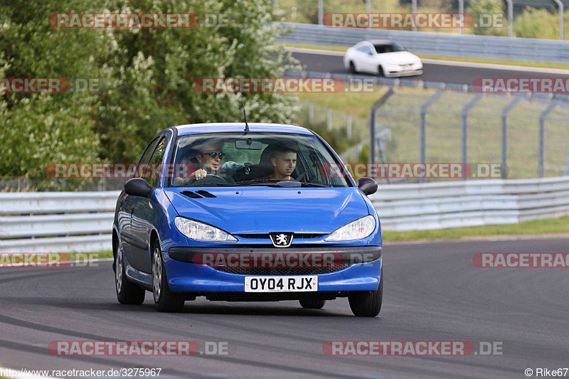
[[[179,312],[184,308],[184,296],[170,292],[168,287],[158,239],[152,245],[152,296],[158,311]]]

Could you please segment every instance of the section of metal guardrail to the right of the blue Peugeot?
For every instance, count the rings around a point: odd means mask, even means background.
[[[391,184],[370,198],[385,230],[519,223],[569,215],[569,176]]]

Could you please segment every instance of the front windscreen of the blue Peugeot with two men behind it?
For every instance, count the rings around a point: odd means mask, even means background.
[[[211,133],[180,136],[173,162],[188,169],[169,179],[172,187],[351,186],[348,174],[314,135]],[[338,174],[340,173],[340,174]]]

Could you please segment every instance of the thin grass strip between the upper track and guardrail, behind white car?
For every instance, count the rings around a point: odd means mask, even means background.
[[[289,48],[310,48],[314,50],[332,50],[332,51],[346,51],[347,46],[320,46],[309,45],[307,43],[284,43]],[[494,65],[515,65],[523,67],[536,67],[536,68],[560,68],[569,70],[569,63],[561,62],[534,62],[531,60],[514,60],[514,59],[498,59],[498,58],[476,58],[476,57],[455,57],[452,55],[436,55],[436,54],[418,54],[422,59],[436,59],[436,60],[452,60],[453,62],[470,62],[470,63],[489,63]]]

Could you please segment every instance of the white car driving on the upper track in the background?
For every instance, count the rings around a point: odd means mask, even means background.
[[[356,43],[346,51],[344,67],[351,73],[371,73],[388,78],[422,74],[421,59],[389,40]]]

